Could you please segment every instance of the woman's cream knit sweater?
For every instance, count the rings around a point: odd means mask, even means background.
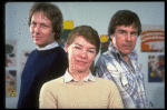
[[[40,108],[122,108],[116,84],[95,77],[94,81],[65,82],[65,76],[46,82],[40,91]]]

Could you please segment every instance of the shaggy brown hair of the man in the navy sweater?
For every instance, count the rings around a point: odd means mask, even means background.
[[[63,17],[60,9],[48,2],[36,2],[29,11],[28,24],[31,24],[31,18],[35,12],[43,12],[43,14],[51,20],[52,31],[56,32],[55,40],[60,43],[60,38],[63,29]]]

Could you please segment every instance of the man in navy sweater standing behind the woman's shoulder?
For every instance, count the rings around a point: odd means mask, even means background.
[[[37,49],[29,54],[21,73],[17,109],[38,109],[41,86],[65,73],[68,58],[60,47],[62,24],[63,16],[56,4],[32,4],[28,26]]]

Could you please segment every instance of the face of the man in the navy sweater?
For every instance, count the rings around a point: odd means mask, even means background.
[[[31,18],[30,33],[38,48],[46,47],[55,41],[56,32],[52,31],[52,24],[42,12],[35,12]]]

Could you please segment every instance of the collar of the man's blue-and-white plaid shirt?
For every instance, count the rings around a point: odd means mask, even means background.
[[[114,52],[116,54],[116,59],[120,61],[120,52],[115,48],[115,46],[112,44],[112,42],[109,43],[109,47],[108,47],[108,51],[110,52]],[[130,53],[129,53],[129,57],[131,58],[137,58],[137,52],[136,50],[132,50]]]

